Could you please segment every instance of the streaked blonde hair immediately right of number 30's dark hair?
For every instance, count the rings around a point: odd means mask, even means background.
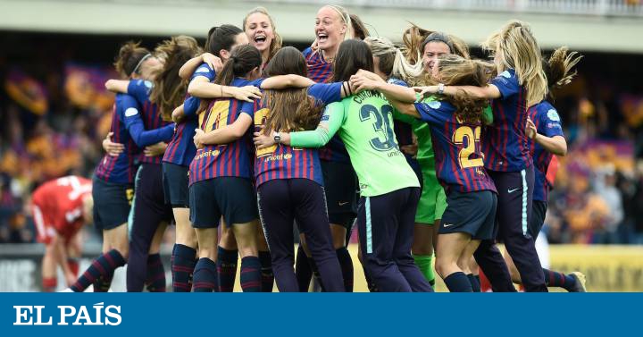
[[[373,56],[380,58],[380,71],[388,77],[414,82],[422,74],[422,62],[414,64],[405,59],[405,55],[388,38],[365,38],[364,42],[371,46]]]

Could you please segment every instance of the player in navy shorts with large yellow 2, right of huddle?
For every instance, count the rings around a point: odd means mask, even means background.
[[[490,65],[445,55],[433,65],[431,78],[448,85],[480,86],[487,82]],[[439,227],[436,269],[449,291],[471,292],[468,262],[480,240],[493,237],[496,188],[483,167],[480,154],[480,118],[485,99],[443,97],[416,103],[411,88],[355,77],[357,88],[377,88],[397,110],[431,127],[438,180],[447,190],[447,210]],[[406,103],[403,103],[406,102]]]

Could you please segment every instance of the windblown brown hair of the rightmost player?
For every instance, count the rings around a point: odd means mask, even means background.
[[[561,88],[569,84],[576,71],[572,72],[572,68],[580,62],[583,55],[577,52],[570,53],[566,46],[561,46],[549,56],[548,60],[543,59],[543,71],[547,77],[547,88],[549,89],[549,97],[554,99],[552,89]]]

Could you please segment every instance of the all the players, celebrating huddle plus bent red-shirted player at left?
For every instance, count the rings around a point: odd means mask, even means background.
[[[534,246],[566,152],[551,90],[580,55],[544,58],[520,21],[483,43],[491,63],[414,25],[398,47],[338,5],[318,11],[303,53],[281,46],[262,7],[242,28],[210,29],[203,48],[186,36],[121,46],[125,80],[105,84],[117,94],[93,180],[34,193],[46,289],[56,263],[68,291],[108,291],[127,264],[128,291],[165,291],[173,220],[173,291],[232,291],[239,256],[243,291],[308,291],[313,277],[353,291],[355,224],[371,291],[433,291],[434,270],[449,291],[480,291],[479,270],[493,291],[585,291],[584,275],[543,269]],[[82,222],[104,244],[76,279],[67,261]]]

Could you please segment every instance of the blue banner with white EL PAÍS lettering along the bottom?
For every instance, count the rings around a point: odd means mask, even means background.
[[[640,335],[643,293],[0,293],[3,336]]]

